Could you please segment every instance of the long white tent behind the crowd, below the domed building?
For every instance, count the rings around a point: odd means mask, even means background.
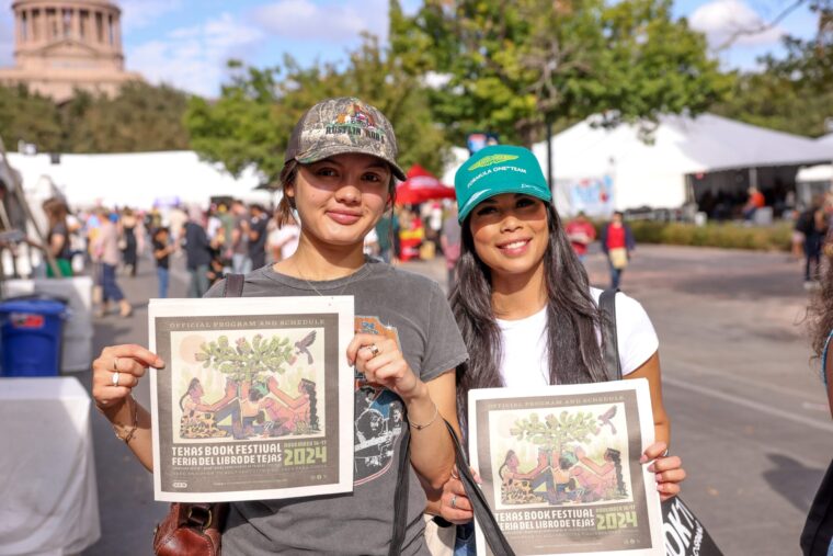
[[[72,208],[101,204],[138,209],[175,201],[207,208],[212,196],[224,195],[269,204],[273,195],[255,190],[260,180],[254,171],[236,179],[192,151],[60,155],[58,163],[48,154],[12,152],[9,163],[20,172],[26,196],[38,205],[56,192]]]

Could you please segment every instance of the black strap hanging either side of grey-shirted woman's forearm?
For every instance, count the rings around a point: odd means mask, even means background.
[[[454,443],[455,462],[457,464],[457,472],[460,476],[460,481],[466,489],[466,496],[471,502],[471,507],[475,510],[475,518],[477,519],[480,530],[483,532],[486,542],[492,549],[495,556],[514,556],[515,553],[503,536],[503,532],[498,525],[498,521],[494,519],[492,511],[489,509],[489,502],[486,501],[483,492],[475,481],[475,476],[469,469],[466,454],[463,451],[460,440],[457,438],[457,433],[454,427],[443,419],[445,428],[448,430],[448,434],[452,436]],[[397,478],[397,488],[395,495],[393,507],[393,535],[390,541],[390,548],[388,551],[389,556],[396,556],[402,552],[402,542],[404,541],[406,521],[408,512],[408,484],[409,484],[409,447],[410,447],[411,434],[410,430],[406,430],[402,436],[402,445],[399,450],[399,476]]]

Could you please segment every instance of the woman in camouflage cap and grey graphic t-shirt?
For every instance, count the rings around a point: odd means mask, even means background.
[[[440,497],[454,465],[442,418],[456,427],[452,371],[467,353],[436,283],[364,257],[365,235],[393,203],[395,178],[404,179],[396,156],[390,123],[358,99],[320,102],[293,132],[281,173],[278,220],[297,215],[298,249],[247,274],[243,296],[354,296],[358,333],[342,354],[356,368],[354,489],[231,503],[222,531],[225,555],[429,556],[422,515],[426,493]],[[221,292],[218,284],[206,296]],[[129,393],[146,367],[163,365],[138,345],[105,348],[93,363],[98,407],[148,469],[153,466],[150,417]],[[392,547],[406,415],[411,465],[403,479],[410,496],[404,538]]]

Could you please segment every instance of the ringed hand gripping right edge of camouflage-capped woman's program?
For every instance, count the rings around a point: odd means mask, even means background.
[[[425,387],[408,366],[397,342],[384,336],[354,336],[347,345],[347,362],[355,365],[368,383],[395,392],[406,402],[419,396]]]

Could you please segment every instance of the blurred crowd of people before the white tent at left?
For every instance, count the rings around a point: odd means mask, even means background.
[[[300,230],[294,223],[278,229],[270,209],[231,200],[199,206],[104,207],[73,212],[53,197],[42,205],[47,219],[45,248],[61,276],[89,273],[94,279],[98,315],[112,304],[123,317],[133,308],[119,285],[135,279],[139,266],[155,266],[158,297],[170,293],[171,260],[184,258],[189,297],[202,297],[225,274],[248,273],[290,257]],[[48,276],[55,275],[46,264]]]

